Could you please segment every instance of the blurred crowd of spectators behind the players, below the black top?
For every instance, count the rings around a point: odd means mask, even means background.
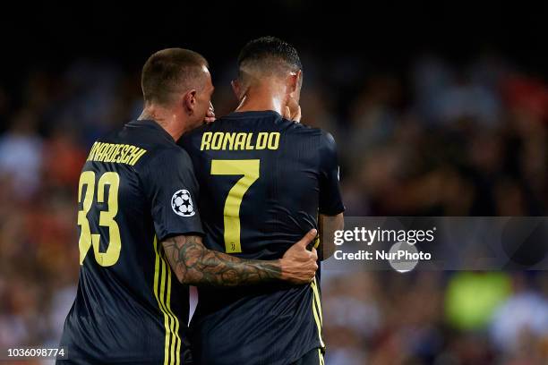
[[[548,87],[500,55],[405,70],[304,53],[303,123],[338,141],[347,216],[545,216]],[[55,346],[78,279],[90,144],[141,112],[139,69],[77,60],[0,84],[0,348]],[[218,116],[233,63],[213,67]],[[548,363],[548,275],[323,273],[326,363]]]

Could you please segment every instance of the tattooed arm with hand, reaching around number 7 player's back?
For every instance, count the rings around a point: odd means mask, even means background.
[[[163,241],[169,265],[183,284],[235,286],[285,280],[305,284],[313,280],[318,265],[316,250],[306,250],[316,230],[296,242],[282,259],[239,259],[208,250],[196,235],[179,235]]]

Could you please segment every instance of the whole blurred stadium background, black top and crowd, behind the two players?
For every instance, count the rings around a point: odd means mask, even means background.
[[[57,344],[82,161],[139,115],[141,65],[163,47],[208,58],[220,116],[239,48],[293,43],[303,121],[338,140],[347,216],[546,215],[542,4],[37,6],[0,25],[0,348]],[[545,272],[325,274],[330,365],[548,361]]]

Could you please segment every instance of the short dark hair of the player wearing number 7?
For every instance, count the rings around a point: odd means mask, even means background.
[[[240,75],[248,65],[263,72],[276,72],[280,66],[293,72],[303,69],[295,47],[276,37],[261,37],[247,43],[238,56]]]

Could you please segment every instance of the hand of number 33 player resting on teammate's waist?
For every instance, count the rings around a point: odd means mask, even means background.
[[[306,250],[306,246],[313,242],[318,231],[311,229],[301,241],[296,242],[280,260],[282,279],[292,284],[308,284],[313,281],[318,270],[318,252],[316,249]]]

